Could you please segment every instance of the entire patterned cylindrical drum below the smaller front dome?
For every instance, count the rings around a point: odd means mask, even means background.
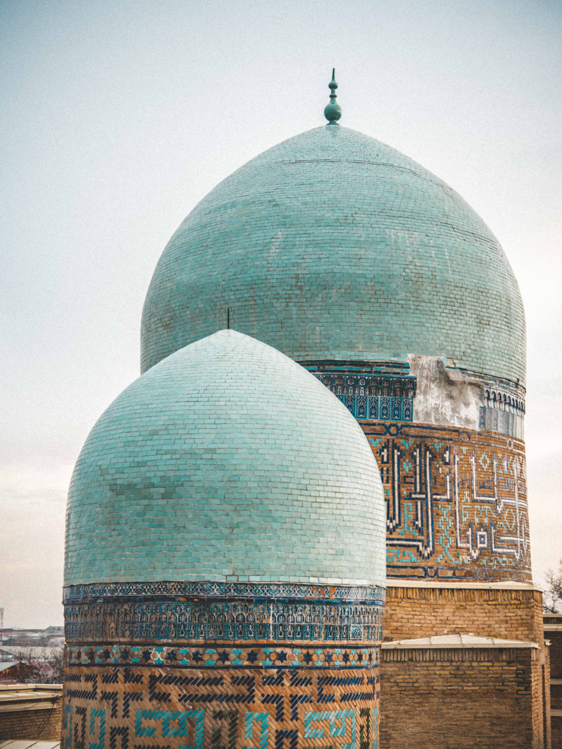
[[[67,591],[64,740],[378,745],[382,589],[194,587]]]

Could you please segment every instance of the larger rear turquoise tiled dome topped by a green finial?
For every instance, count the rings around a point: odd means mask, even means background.
[[[226,178],[169,241],[142,315],[142,371],[231,327],[294,360],[449,357],[525,383],[525,315],[498,240],[443,181],[345,127]]]

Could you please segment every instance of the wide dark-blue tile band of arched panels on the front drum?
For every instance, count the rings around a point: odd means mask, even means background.
[[[339,601],[120,601],[66,604],[73,640],[381,640],[383,607]]]

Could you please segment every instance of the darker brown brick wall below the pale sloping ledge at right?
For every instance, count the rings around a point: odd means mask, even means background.
[[[381,749],[543,749],[540,661],[537,649],[383,650]]]

